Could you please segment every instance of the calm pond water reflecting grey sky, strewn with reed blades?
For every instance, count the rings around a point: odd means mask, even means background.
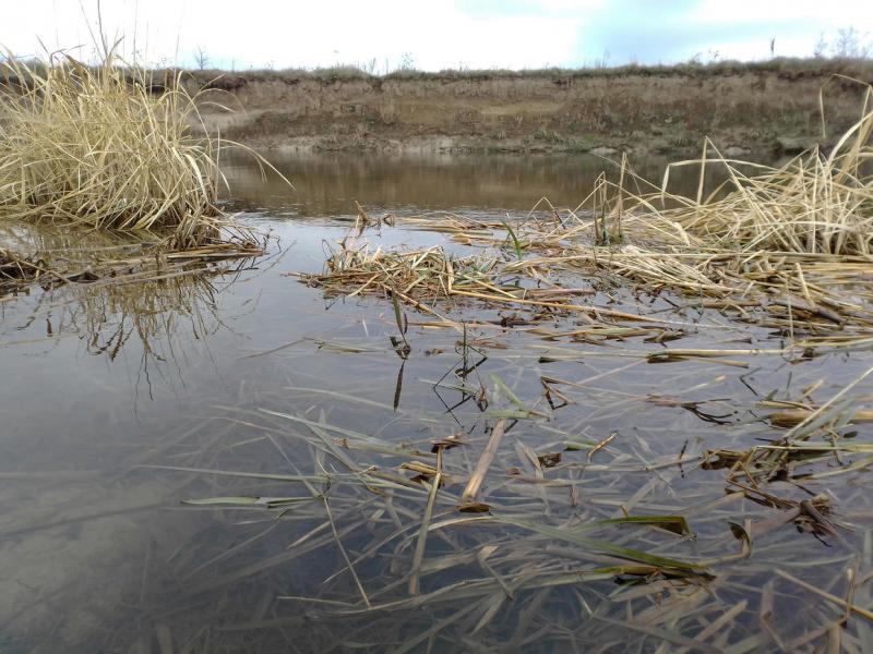
[[[846,608],[873,606],[869,453],[757,495],[701,465],[707,450],[775,439],[762,400],[821,403],[862,376],[869,351],[649,365],[663,346],[647,335],[546,340],[528,327],[586,324],[474,306],[453,314],[467,329],[405,310],[400,355],[391,302],[325,298],[294,276],[322,269],[355,202],[372,216],[522,220],[542,196],[576,206],[612,168],[582,156],[271,159],[295,190],[244,159],[225,165],[228,207],[271,235],[264,257],[223,275],[0,296],[0,652],[873,647],[870,620]],[[660,180],[665,165],[637,172]],[[696,177],[672,184],[693,193]],[[362,238],[445,243],[402,223]],[[684,348],[780,347],[681,298],[590,286],[586,303],[671,320]],[[870,390],[850,397],[863,408]],[[501,420],[479,495],[492,513],[458,513]],[[869,426],[851,429],[868,441]],[[442,452],[434,497],[409,464],[435,465],[432,441],[453,435],[464,445]],[[774,506],[815,495],[835,535]],[[486,525],[491,514],[506,522]],[[692,533],[576,529],[653,514],[684,517]],[[655,573],[603,543],[706,569]]]

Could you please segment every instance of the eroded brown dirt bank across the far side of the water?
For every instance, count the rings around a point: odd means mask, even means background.
[[[790,154],[854,122],[873,62],[791,60],[530,72],[199,71],[210,129],[261,147],[345,150],[696,150]],[[605,150],[609,152],[609,150]]]

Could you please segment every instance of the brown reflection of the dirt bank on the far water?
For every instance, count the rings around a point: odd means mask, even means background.
[[[241,156],[229,157],[225,174],[232,197],[242,207],[278,210],[280,215],[321,217],[354,215],[364,207],[452,210],[457,208],[527,211],[540,197],[555,206],[578,205],[601,173],[617,177],[618,164],[595,156],[513,155],[374,156],[355,154],[270,153],[270,159],[296,191],[275,174],[262,180]],[[632,169],[660,184],[669,160],[635,159]],[[707,171],[707,183],[719,179]],[[674,169],[669,190],[697,191],[694,167]]]

